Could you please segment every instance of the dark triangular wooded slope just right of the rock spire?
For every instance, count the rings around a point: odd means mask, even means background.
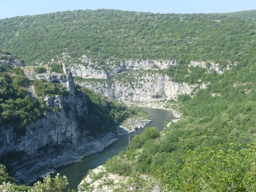
[[[82,92],[87,96],[88,115],[78,116],[80,129],[89,130],[92,134],[100,134],[102,131],[114,131],[116,126],[125,119],[138,113],[135,109],[104,97],[92,90],[76,86],[76,94]]]

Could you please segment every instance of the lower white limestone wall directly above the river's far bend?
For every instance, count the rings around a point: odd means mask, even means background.
[[[125,77],[124,77],[125,79]],[[92,89],[111,99],[154,102],[160,100],[177,100],[178,95],[190,94],[197,85],[177,83],[167,75],[140,74],[132,82],[113,79],[110,82],[82,82],[81,86]]]

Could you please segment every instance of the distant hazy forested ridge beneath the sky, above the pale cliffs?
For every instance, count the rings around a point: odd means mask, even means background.
[[[105,59],[255,58],[255,10],[227,14],[153,14],[77,10],[0,20],[0,46],[36,65],[68,53]],[[47,49],[46,49],[47,48]]]

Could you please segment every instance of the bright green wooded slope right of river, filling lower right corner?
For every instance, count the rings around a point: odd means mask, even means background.
[[[254,62],[210,82],[194,97],[180,96],[181,121],[155,139],[134,137],[106,162],[108,171],[151,174],[167,191],[255,191]]]

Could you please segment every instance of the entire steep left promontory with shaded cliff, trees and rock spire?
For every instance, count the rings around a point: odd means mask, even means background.
[[[141,112],[75,85],[63,64],[62,73],[54,66],[17,67],[21,61],[2,53],[11,59],[0,60],[0,162],[20,183],[101,151],[117,135],[150,122]],[[119,127],[130,117],[133,126]]]

